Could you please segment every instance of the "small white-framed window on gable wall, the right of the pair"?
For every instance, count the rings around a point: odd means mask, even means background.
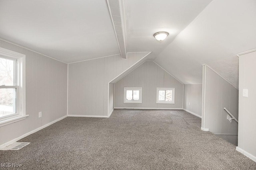
[[[156,88],[157,104],[174,104],[175,88]]]

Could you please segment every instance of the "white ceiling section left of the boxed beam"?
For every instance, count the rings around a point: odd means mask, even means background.
[[[119,54],[106,0],[0,0],[0,37],[66,63]]]

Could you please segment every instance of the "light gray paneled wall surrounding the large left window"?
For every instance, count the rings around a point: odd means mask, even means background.
[[[0,127],[0,145],[67,115],[68,65],[0,40],[26,55],[26,119]],[[38,112],[42,117],[38,118]]]

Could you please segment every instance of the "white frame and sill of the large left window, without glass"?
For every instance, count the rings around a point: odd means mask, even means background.
[[[16,88],[16,113],[0,117],[0,127],[26,115],[26,55],[0,47],[0,57],[16,61],[14,64],[14,86],[0,88]],[[9,123],[8,123],[9,124]]]

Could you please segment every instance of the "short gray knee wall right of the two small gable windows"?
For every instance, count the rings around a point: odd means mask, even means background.
[[[202,84],[184,84],[183,108],[202,116]]]

